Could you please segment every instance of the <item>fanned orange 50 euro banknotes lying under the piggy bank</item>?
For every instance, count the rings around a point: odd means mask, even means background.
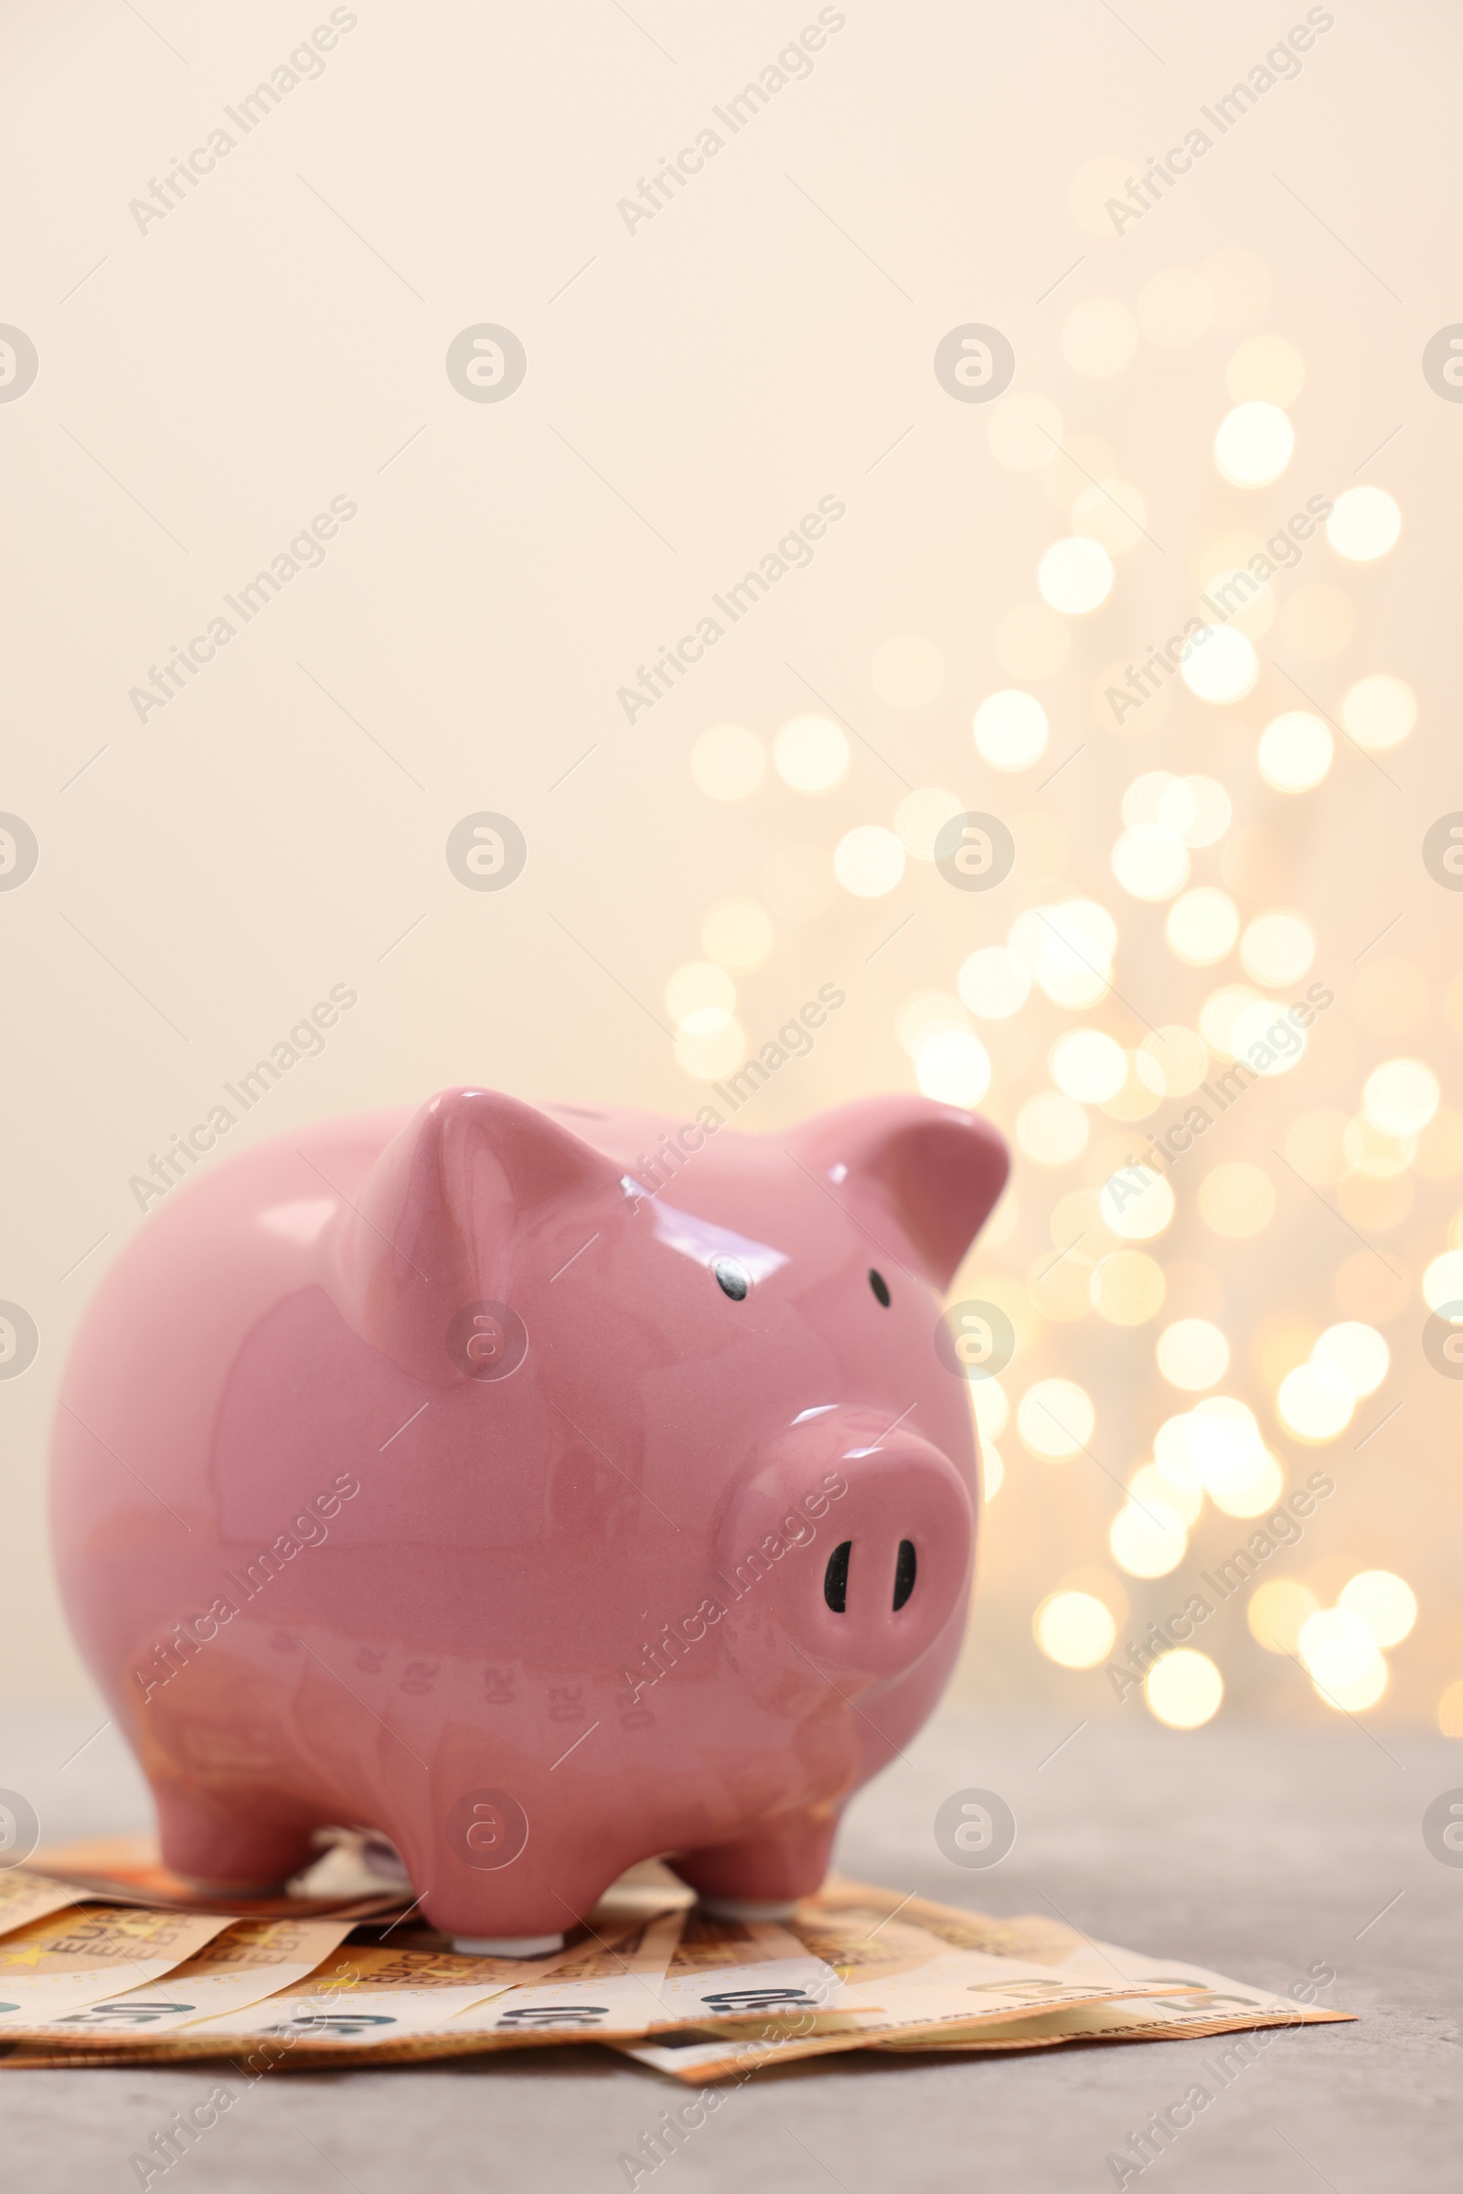
[[[0,1871],[0,2069],[320,2065],[597,2043],[691,2086],[847,2049],[1002,2051],[1349,2018],[1220,1972],[831,1878],[781,1924],[713,1920],[660,1863],[551,1957],[463,1957],[340,1839],[224,1911],[129,1843]],[[1312,2001],[1301,2001],[1307,1994]]]

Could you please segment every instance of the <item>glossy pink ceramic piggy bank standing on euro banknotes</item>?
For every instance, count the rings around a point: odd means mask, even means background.
[[[461,1088],[169,1198],[53,1477],[165,1861],[243,1893],[368,1825],[524,1955],[654,1854],[746,1918],[814,1891],[959,1650],[937,1327],[1005,1174],[921,1097],[750,1136]]]

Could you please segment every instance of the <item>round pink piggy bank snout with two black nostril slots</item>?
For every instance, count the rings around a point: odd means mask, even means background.
[[[733,1503],[724,1562],[794,1665],[869,1685],[915,1667],[963,1617],[972,1540],[961,1474],[928,1441],[787,1441]]]

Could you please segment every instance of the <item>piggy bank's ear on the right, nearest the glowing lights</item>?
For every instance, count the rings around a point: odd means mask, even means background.
[[[941,1290],[1011,1169],[987,1121],[930,1097],[864,1097],[820,1112],[790,1147],[875,1237],[893,1222]]]

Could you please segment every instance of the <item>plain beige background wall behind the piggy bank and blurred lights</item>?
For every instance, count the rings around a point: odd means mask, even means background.
[[[1456,1099],[1463,1005],[1448,998],[1463,904],[1419,856],[1434,816],[1463,805],[1450,691],[1463,408],[1419,364],[1432,331],[1463,316],[1456,18],[1336,7],[1298,79],[1119,241],[1073,211],[1079,173],[1103,158],[1132,173],[1180,143],[1303,9],[1127,0],[1119,18],[1097,0],[849,0],[842,13],[812,77],[634,235],[616,202],[816,9],[638,0],[632,20],[612,0],[362,0],[325,75],[145,235],[129,200],[327,9],[149,0],[143,20],[99,0],[4,13],[0,320],[39,351],[35,386],[0,404],[0,807],[42,847],[35,875],[0,895],[0,1294],[42,1334],[35,1365],[0,1382],[18,1703],[88,1696],[50,1582],[44,1452],[86,1294],[147,1224],[127,1180],[331,983],[353,985],[360,1007],[230,1147],[474,1079],[689,1112],[702,1084],[676,1060],[665,983],[702,959],[713,902],[755,900],[776,941],[739,979],[752,1044],[820,983],[849,992],[814,1055],[759,1099],[770,1130],[912,1088],[904,1005],[954,994],[965,957],[1002,943],[1022,908],[1095,897],[1119,921],[1121,996],[1070,1014],[1037,994],[1013,1020],[978,1025],[994,1062],[985,1108],[1011,1132],[1051,1086],[1064,1029],[1095,1025],[1134,1047],[1145,1022],[1193,1029],[1211,989],[1239,979],[1233,954],[1215,970],[1176,961],[1165,906],[1112,875],[1123,788],[1160,768],[1224,781],[1233,829],[1193,856],[1193,882],[1230,889],[1246,919],[1298,908],[1316,932],[1312,979],[1338,1003],[1303,1064],[1250,1093],[1176,1176],[1173,1224],[1147,1244],[1169,1292],[1145,1325],[1029,1290],[1062,1246],[1059,1200],[1101,1185],[1141,1130],[1092,1108],[1073,1163],[1018,1154],[1018,1220],[956,1292],[1011,1303],[1013,1404],[1037,1378],[1086,1387],[1101,1468],[1040,1461],[1013,1426],[1000,1437],[1005,1485],[959,1683],[969,1698],[1040,1698],[1073,1722],[1143,1714],[1134,1700],[1119,1709],[1101,1670],[1053,1667],[1031,1619],[1077,1575],[1114,1602],[1121,1591],[1121,1637],[1138,1635],[1178,1604],[1178,1577],[1248,1531],[1206,1512],[1176,1577],[1154,1584],[1123,1577],[1108,1549],[1116,1481],[1191,1400],[1154,1362],[1158,1332],[1184,1310],[1224,1327],[1222,1391],[1255,1411],[1288,1483],[1316,1466],[1338,1481],[1305,1545],[1270,1573],[1309,1580],[1327,1604],[1371,1567],[1417,1593],[1417,1628],[1388,1654],[1366,1720],[1432,1722],[1463,1678],[1459,1387],[1424,1360],[1419,1297],[1426,1264],[1450,1246],[1456,1176],[1408,1174],[1410,1189],[1386,1198],[1353,1189],[1345,1220],[1345,1185],[1325,1191],[1325,1211],[1274,1156],[1301,1115],[1353,1115],[1371,1068],[1402,1053]],[[1075,307],[1138,309],[1152,276],[1226,250],[1263,263],[1268,303],[1187,344],[1145,336],[1114,377],[1066,362]],[[529,353],[504,404],[463,402],[443,371],[452,338],[485,320]],[[937,384],[934,347],[967,320],[1013,342],[1013,395],[1048,397],[1077,448],[1108,443],[1163,544],[1116,559],[1112,597],[1070,621],[1066,665],[1044,678],[1016,678],[996,636],[1037,599],[1037,559],[1070,531],[1084,480],[1059,459],[998,463],[996,408]],[[1230,404],[1226,364],[1255,333],[1296,344],[1305,388],[1290,406],[1288,472],[1250,494],[1217,476],[1211,441]],[[1246,700],[1178,695],[1114,733],[1095,702],[1099,674],[1191,614],[1206,544],[1266,535],[1358,476],[1397,498],[1397,548],[1345,564],[1312,542],[1277,581],[1279,619],[1257,641],[1263,671]],[[129,687],[331,496],[360,516],[322,568],[138,724]],[[636,665],[689,632],[708,595],[820,496],[842,498],[847,518],[812,568],[627,726],[616,689]],[[1351,636],[1338,643],[1347,603]],[[886,643],[910,634],[934,674],[901,704],[901,652]],[[1309,794],[1261,781],[1259,731],[1301,704],[1277,660],[1331,715],[1369,671],[1413,685],[1419,726],[1382,757],[1391,781],[1347,742]],[[1042,698],[1051,748],[1044,766],[1002,777],[969,726],[1007,685]],[[770,744],[809,711],[853,733],[833,792],[798,794],[772,770],[741,803],[698,790],[689,757],[708,726],[739,722]],[[1018,825],[1018,869],[1000,891],[956,893],[919,860],[875,900],[833,880],[844,832],[888,827],[906,785],[948,788]],[[526,834],[511,891],[469,893],[447,871],[447,832],[474,810],[507,812]],[[1358,989],[1358,954],[1395,917],[1366,965],[1380,954],[1410,974]],[[1158,1117],[1173,1110],[1165,1099]],[[1259,1235],[1226,1240],[1206,1226],[1198,1185],[1211,1163],[1241,1158],[1272,1176],[1277,1209]],[[1402,1290],[1366,1290],[1366,1244],[1406,1273]],[[1316,1450],[1285,1433],[1274,1393],[1342,1314],[1371,1316],[1393,1362],[1353,1426]],[[1224,1714],[1331,1720],[1237,1608],[1206,1650]]]

